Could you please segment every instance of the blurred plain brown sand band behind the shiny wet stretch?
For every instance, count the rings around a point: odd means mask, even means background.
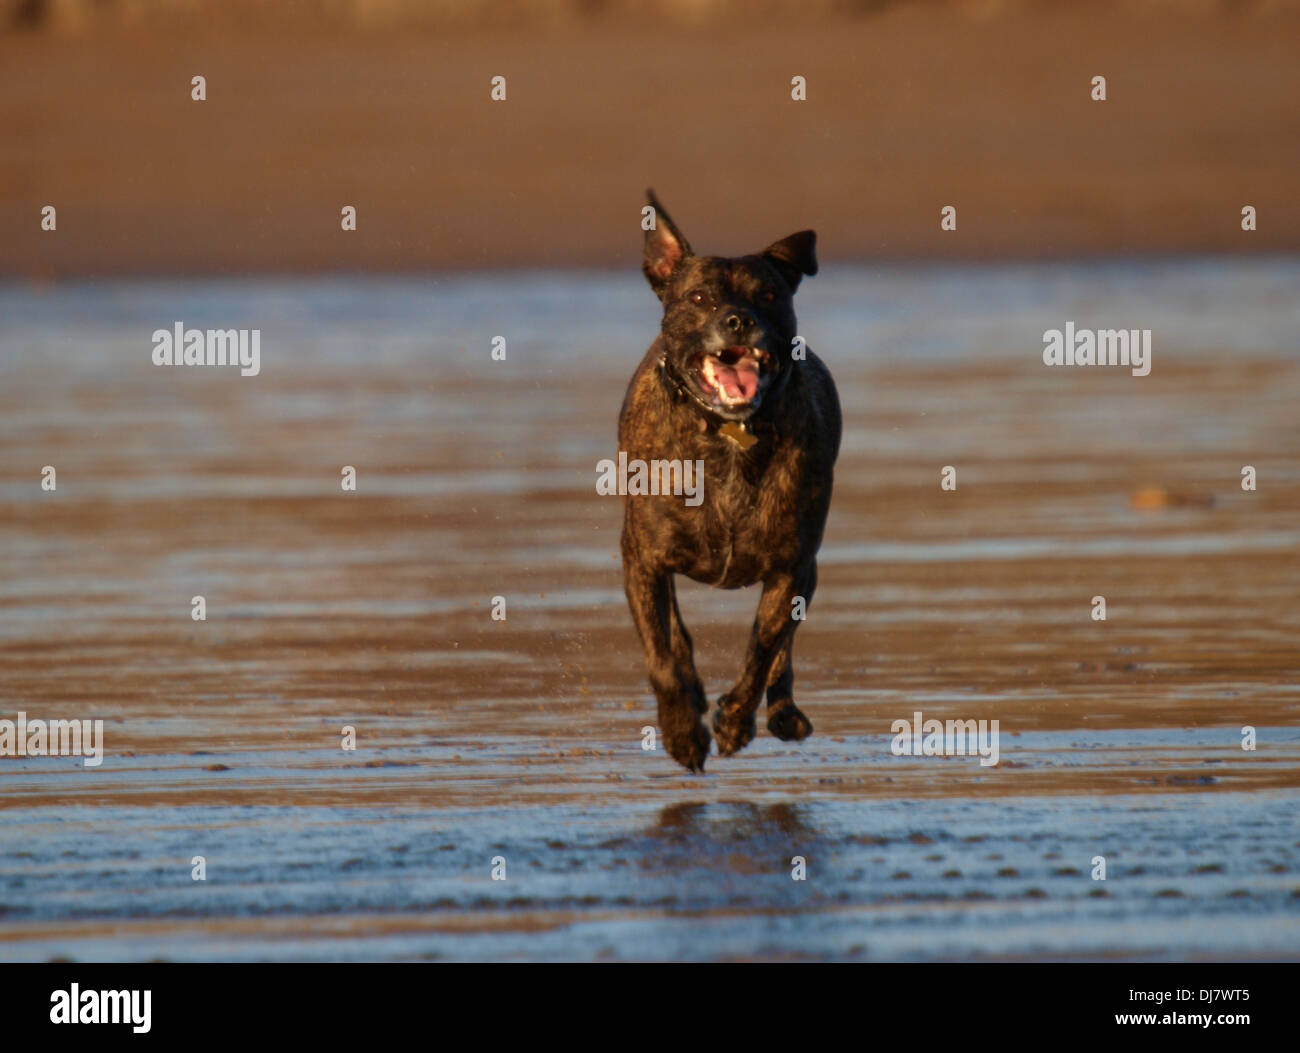
[[[231,21],[0,35],[0,274],[634,266],[647,185],[724,252],[810,226],[828,260],[1300,250],[1295,5]]]

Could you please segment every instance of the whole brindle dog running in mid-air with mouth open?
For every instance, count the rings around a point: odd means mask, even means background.
[[[763,582],[745,667],[714,712],[722,755],[767,727],[800,740],[812,724],[793,699],[790,644],[816,588],[840,402],[811,352],[794,358],[794,290],[816,273],[811,230],[738,259],[696,256],[650,192],[642,270],[663,302],[663,326],[632,377],[619,416],[628,460],[703,462],[703,503],[624,497],[623,573],[645,647],[668,753],[703,771],[708,708],[673,575],[722,589]],[[697,481],[698,485],[698,481]]]

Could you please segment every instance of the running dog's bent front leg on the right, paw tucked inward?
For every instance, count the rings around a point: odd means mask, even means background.
[[[809,601],[815,584],[814,563],[763,582],[763,595],[758,601],[758,614],[749,636],[749,650],[745,653],[745,668],[734,686],[718,699],[718,708],[714,711],[714,736],[722,757],[745,749],[754,737],[754,712],[763,699],[772,666],[786,651],[800,624],[792,618],[794,598],[803,597],[805,602]],[[788,654],[785,660],[789,662]],[[794,675],[788,664],[783,673],[793,685]],[[790,705],[793,706],[793,701]]]

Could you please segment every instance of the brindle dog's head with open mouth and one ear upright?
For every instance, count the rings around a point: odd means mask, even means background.
[[[707,412],[746,420],[793,368],[794,290],[816,274],[816,234],[801,230],[753,256],[696,256],[647,194],[655,225],[641,269],[663,302],[663,368]]]

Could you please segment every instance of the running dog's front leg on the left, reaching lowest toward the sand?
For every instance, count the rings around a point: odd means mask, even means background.
[[[689,658],[690,637],[676,611],[672,576],[650,571],[625,555],[623,588],[645,647],[664,746],[682,767],[703,771],[710,738],[699,715],[708,708],[708,702]],[[679,627],[677,632],[673,625]]]

